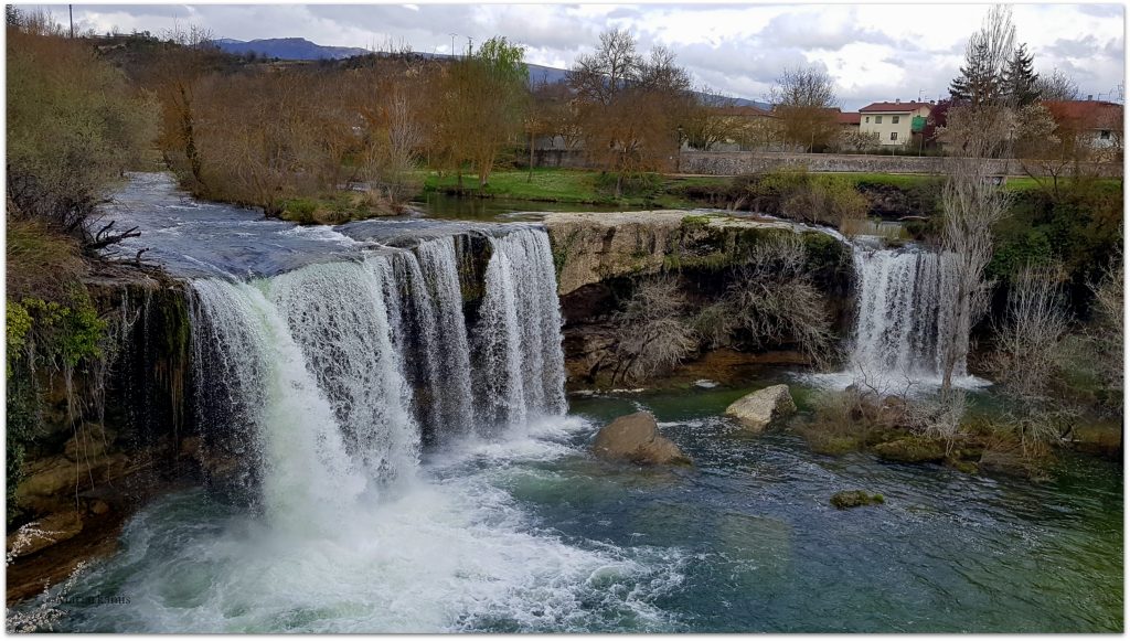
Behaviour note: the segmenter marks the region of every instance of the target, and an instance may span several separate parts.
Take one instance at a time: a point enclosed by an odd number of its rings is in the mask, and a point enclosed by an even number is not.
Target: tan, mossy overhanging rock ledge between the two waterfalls
[[[727,295],[754,248],[781,235],[796,235],[803,244],[803,269],[823,292],[835,331],[845,335],[851,322],[851,251],[811,227],[758,216],[671,210],[550,214],[545,225],[558,274],[572,389],[614,382],[623,360],[617,353],[623,332],[616,314],[641,284],[673,278],[688,307],[705,309]],[[731,361],[808,363],[786,339],[757,348],[707,346],[680,366],[710,361],[719,348]],[[707,378],[712,378],[709,372]]]

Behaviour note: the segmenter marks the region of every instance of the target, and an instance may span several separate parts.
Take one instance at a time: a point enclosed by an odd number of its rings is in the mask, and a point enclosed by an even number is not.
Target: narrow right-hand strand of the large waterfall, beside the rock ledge
[[[521,229],[490,239],[479,312],[481,413],[493,423],[563,414],[560,307],[548,235]]]

